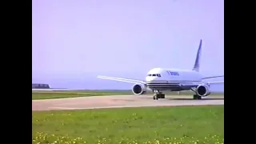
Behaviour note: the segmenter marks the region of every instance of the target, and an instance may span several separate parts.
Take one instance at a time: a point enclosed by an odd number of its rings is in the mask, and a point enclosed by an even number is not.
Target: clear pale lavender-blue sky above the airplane
[[[33,82],[101,89],[98,74],[143,79],[154,67],[192,69],[201,38],[202,73],[224,74],[223,0],[32,2]]]

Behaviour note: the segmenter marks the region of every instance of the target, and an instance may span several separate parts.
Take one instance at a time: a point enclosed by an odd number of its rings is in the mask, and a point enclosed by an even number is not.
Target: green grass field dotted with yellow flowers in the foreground
[[[32,112],[32,143],[223,143],[224,106]]]

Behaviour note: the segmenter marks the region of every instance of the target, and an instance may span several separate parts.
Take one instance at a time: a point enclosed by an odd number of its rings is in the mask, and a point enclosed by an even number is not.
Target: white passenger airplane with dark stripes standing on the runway
[[[130,78],[108,77],[102,75],[99,75],[98,78],[134,83],[134,86],[132,86],[131,90],[135,95],[146,94],[147,90],[152,90],[154,92],[154,100],[158,100],[158,98],[165,98],[163,91],[167,90],[192,90],[194,91],[193,99],[202,99],[202,97],[210,95],[210,84],[222,82],[224,83],[224,81],[202,82],[202,80],[208,78],[224,77],[224,75],[203,77],[203,75],[199,72],[201,51],[202,39],[200,40],[198,46],[198,53],[192,70],[154,68],[147,73],[145,81]]]

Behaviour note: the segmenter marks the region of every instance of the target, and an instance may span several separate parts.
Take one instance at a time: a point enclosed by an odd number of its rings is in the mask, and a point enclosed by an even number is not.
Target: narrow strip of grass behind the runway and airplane
[[[77,91],[32,91],[32,99],[50,99],[50,98],[74,98],[90,97],[102,95],[128,95],[132,94],[131,90],[77,90]],[[148,92],[147,94],[153,94]],[[165,94],[177,95],[177,92],[165,92]],[[181,95],[193,95],[192,92],[180,92]],[[211,94],[223,95],[223,94]]]

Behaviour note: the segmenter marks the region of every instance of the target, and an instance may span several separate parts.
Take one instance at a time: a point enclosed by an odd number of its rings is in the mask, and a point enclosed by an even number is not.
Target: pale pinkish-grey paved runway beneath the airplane
[[[113,95],[80,98],[57,98],[32,100],[34,110],[82,110],[141,106],[196,106],[224,105],[224,96],[210,96],[202,100],[193,100],[192,96],[166,96],[165,99],[153,100],[152,96]]]

